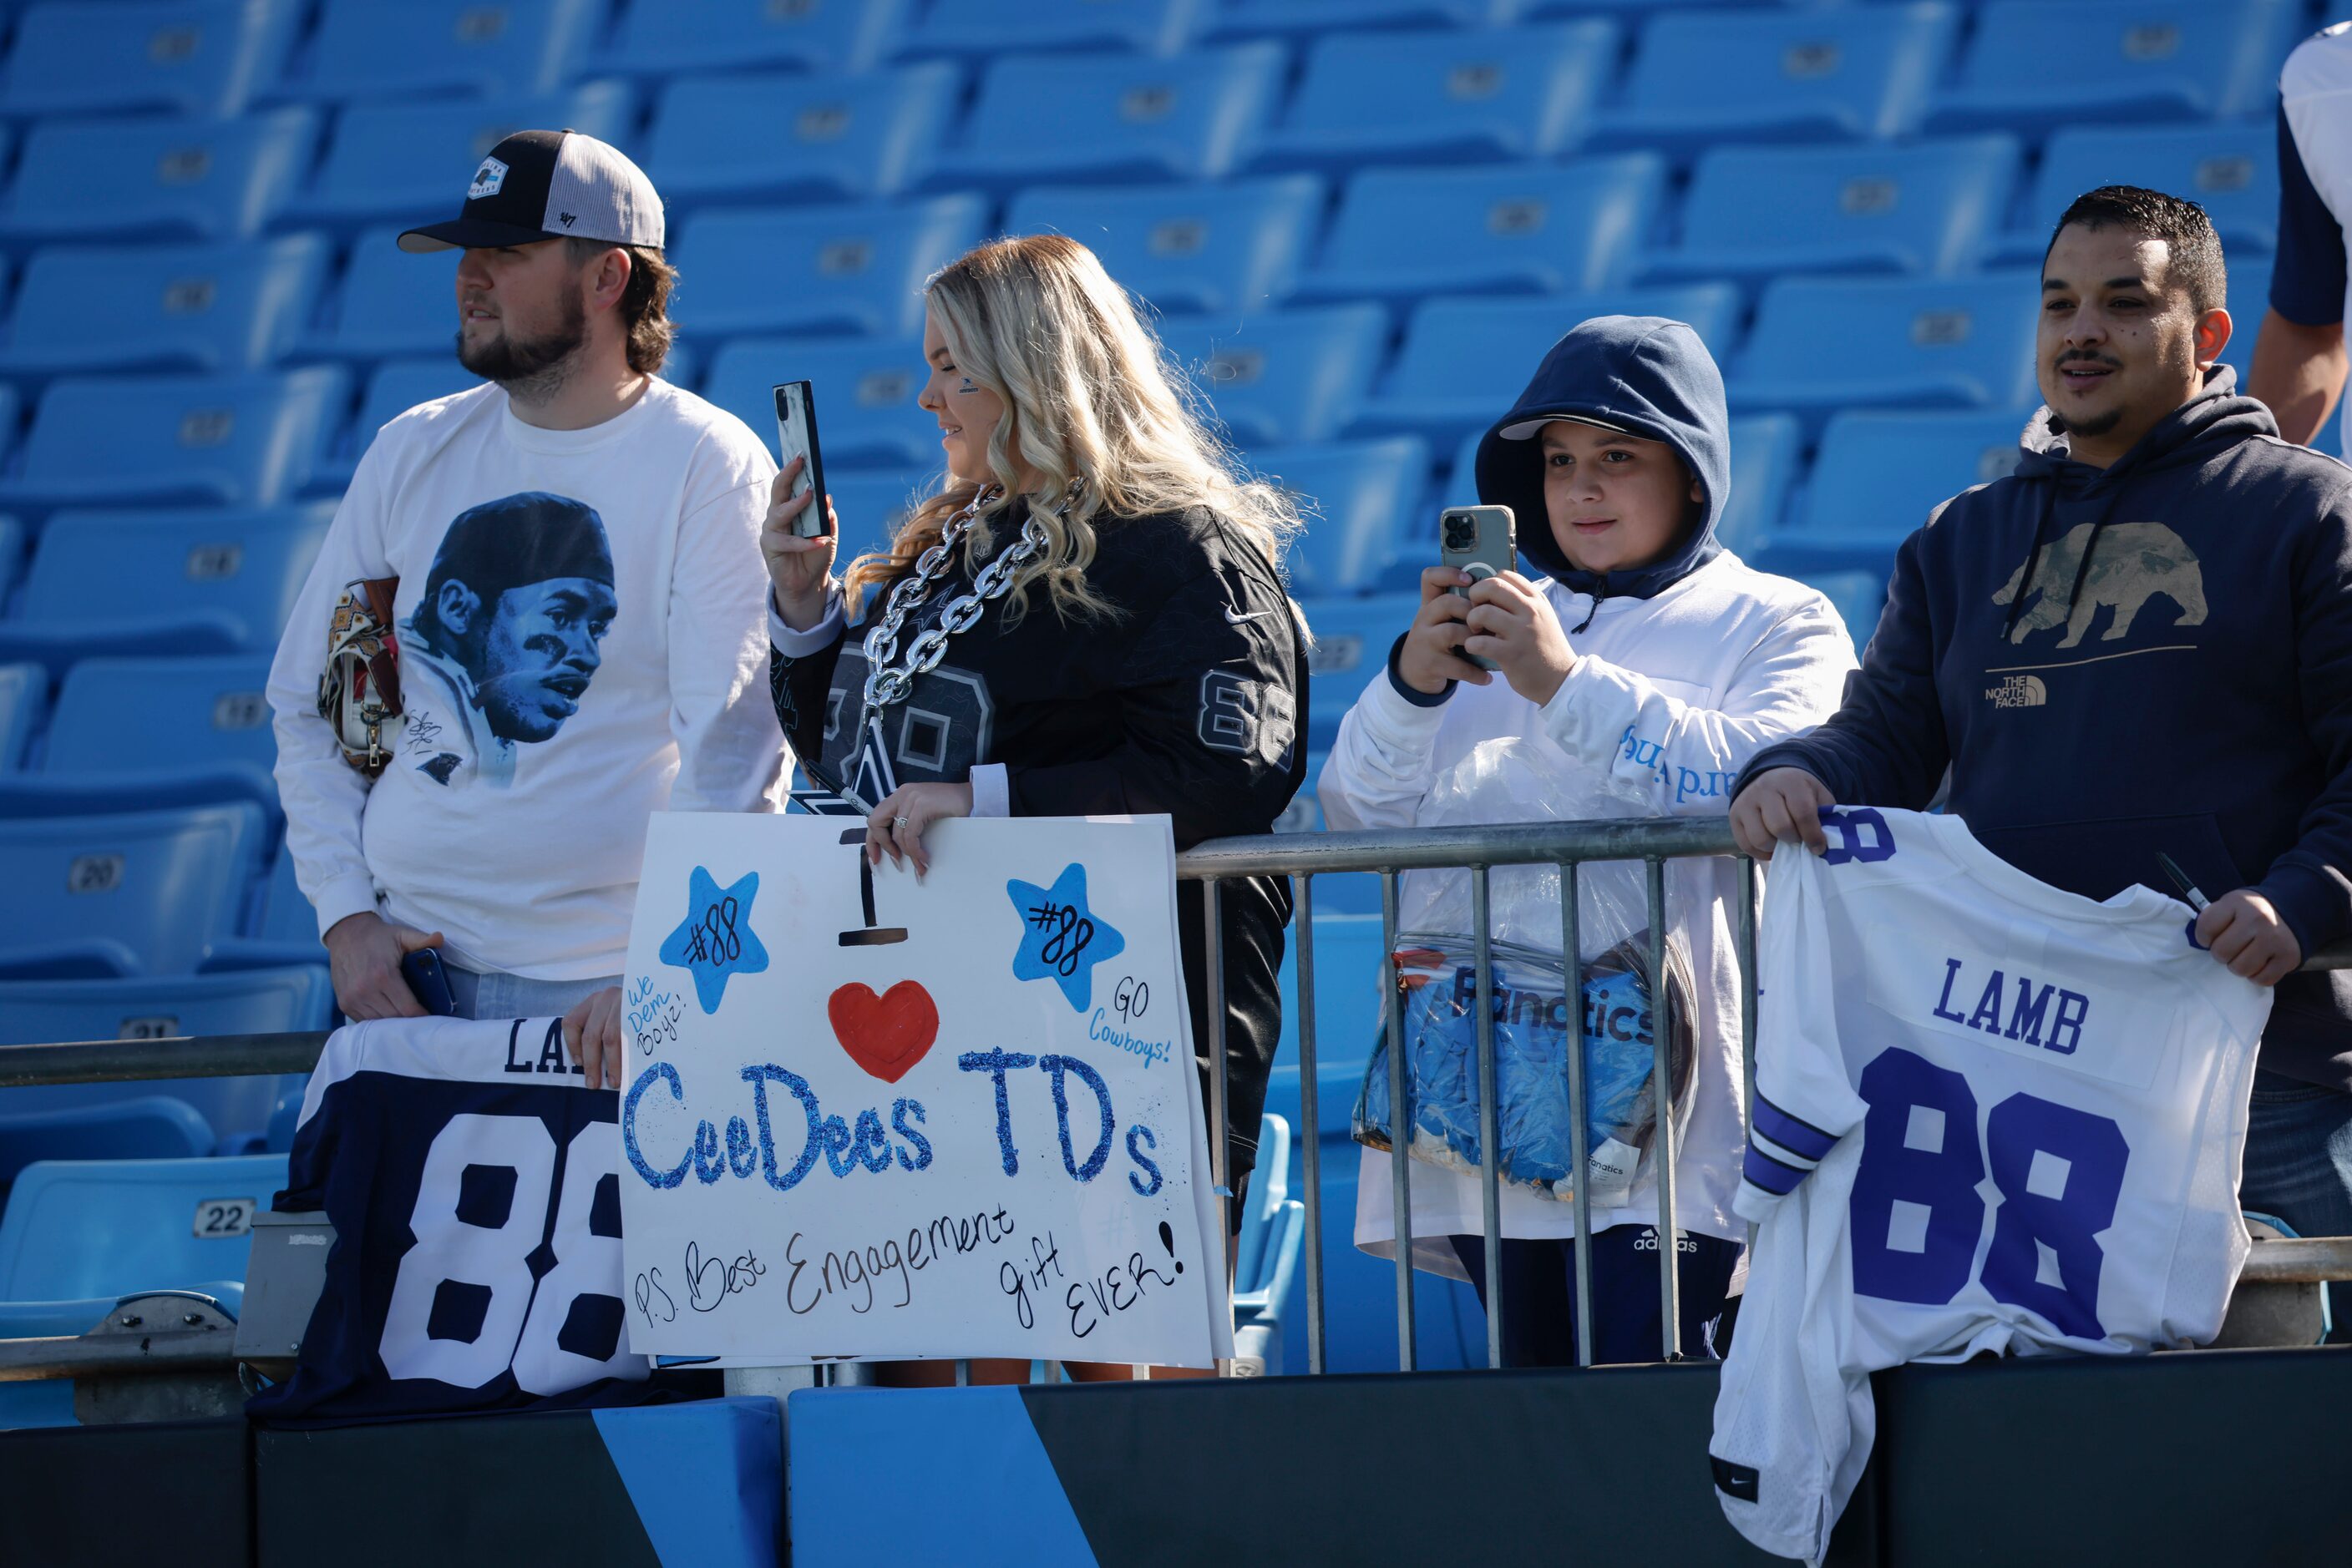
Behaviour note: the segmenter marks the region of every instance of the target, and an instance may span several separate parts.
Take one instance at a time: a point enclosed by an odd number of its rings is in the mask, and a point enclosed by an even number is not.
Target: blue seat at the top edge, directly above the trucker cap
[[[303,99],[555,92],[604,19],[597,0],[327,0],[285,78]]]

